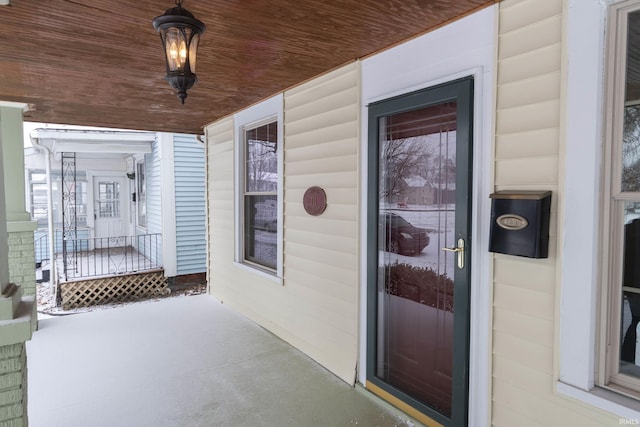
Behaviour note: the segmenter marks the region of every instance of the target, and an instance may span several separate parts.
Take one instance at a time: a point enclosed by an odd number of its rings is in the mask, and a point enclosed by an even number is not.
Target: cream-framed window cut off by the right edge
[[[598,382],[640,398],[640,1],[613,9]]]

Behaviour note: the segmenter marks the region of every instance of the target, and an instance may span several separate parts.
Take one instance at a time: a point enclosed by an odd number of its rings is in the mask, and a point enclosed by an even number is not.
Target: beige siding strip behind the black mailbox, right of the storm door
[[[492,424],[603,426],[618,418],[554,392],[563,0],[499,5],[494,185],[552,190],[549,258],[494,255]]]

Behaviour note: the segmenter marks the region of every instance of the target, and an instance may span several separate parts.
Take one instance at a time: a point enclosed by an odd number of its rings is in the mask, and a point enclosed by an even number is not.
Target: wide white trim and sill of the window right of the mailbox
[[[606,250],[600,247],[604,114],[612,108],[605,92],[605,35],[610,6],[627,2],[568,2],[566,143],[561,159],[564,190],[558,206],[563,231],[558,258],[561,289],[556,391],[622,418],[640,419],[637,401],[595,386],[598,346],[603,345],[598,335],[598,299],[600,254]],[[580,215],[570,214],[569,206]]]

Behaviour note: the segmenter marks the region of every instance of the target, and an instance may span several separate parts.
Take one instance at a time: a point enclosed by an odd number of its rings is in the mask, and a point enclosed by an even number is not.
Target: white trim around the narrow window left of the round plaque
[[[242,215],[244,204],[243,176],[244,173],[244,130],[253,125],[263,123],[265,120],[272,118],[278,123],[278,240],[277,240],[277,261],[275,278],[282,278],[283,272],[283,211],[284,211],[284,124],[283,124],[283,103],[282,94],[273,96],[265,101],[260,102],[252,107],[247,108],[233,116],[234,129],[234,234],[235,234],[235,251],[234,262],[246,268],[248,271],[256,272],[262,276],[273,278],[274,275],[266,270],[260,269],[258,266],[248,264],[244,261],[243,247],[243,229],[244,218]],[[281,280],[277,282],[282,283]]]

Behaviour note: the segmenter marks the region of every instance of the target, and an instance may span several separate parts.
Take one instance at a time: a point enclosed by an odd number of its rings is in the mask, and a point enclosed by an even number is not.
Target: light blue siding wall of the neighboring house
[[[206,270],[204,145],[174,135],[177,274]]]

